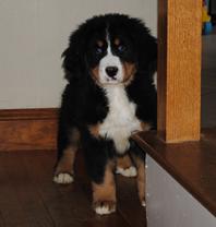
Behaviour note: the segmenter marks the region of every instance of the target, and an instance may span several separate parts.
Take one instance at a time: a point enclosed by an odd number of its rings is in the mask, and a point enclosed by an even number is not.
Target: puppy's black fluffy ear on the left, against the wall
[[[80,32],[75,31],[70,37],[69,47],[62,53],[64,77],[69,82],[81,79],[85,71],[84,44],[82,39]]]

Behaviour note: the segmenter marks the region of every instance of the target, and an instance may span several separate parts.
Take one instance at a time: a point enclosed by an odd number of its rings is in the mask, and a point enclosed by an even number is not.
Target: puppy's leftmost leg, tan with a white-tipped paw
[[[73,166],[79,148],[80,133],[76,129],[71,130],[70,140],[64,134],[59,134],[58,140],[58,160],[55,169],[53,181],[56,183],[73,182]]]

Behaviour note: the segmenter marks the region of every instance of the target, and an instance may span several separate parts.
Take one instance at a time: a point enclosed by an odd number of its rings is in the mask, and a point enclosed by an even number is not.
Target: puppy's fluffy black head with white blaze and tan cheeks
[[[137,19],[107,14],[82,24],[63,57],[69,81],[87,75],[100,86],[127,85],[156,59],[156,41]]]

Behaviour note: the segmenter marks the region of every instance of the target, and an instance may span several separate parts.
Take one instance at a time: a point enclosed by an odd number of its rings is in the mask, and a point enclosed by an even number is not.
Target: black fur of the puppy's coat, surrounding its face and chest
[[[125,37],[132,44],[122,59],[134,62],[136,73],[125,91],[137,106],[136,117],[151,122],[153,128],[156,127],[156,91],[153,85],[157,58],[156,39],[140,20],[127,15],[107,14],[86,21],[72,33],[69,47],[62,53],[68,85],[62,95],[59,117],[58,159],[71,143],[71,130],[79,129],[87,171],[97,183],[103,181],[107,162],[117,156],[111,140],[96,139],[87,129],[89,124],[103,122],[109,111],[104,89],[89,74],[89,69],[98,63],[97,57],[92,56],[91,41],[105,36],[106,29],[110,35]],[[135,145],[131,143],[131,146],[134,148]],[[137,147],[135,151],[137,155]]]

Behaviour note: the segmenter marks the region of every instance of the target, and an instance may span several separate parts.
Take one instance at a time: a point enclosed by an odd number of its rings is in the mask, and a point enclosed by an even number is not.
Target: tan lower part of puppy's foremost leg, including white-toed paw
[[[105,169],[103,183],[93,182],[93,206],[96,213],[109,214],[116,211],[116,183],[113,177],[113,162]]]

